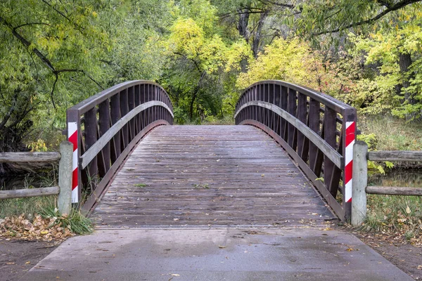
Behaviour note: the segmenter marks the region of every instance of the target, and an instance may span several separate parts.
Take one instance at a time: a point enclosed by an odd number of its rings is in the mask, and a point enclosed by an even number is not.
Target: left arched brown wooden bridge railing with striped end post
[[[152,81],[128,81],[68,109],[68,138],[74,145],[72,202],[89,195],[91,211],[120,164],[143,136],[173,124],[173,107]]]

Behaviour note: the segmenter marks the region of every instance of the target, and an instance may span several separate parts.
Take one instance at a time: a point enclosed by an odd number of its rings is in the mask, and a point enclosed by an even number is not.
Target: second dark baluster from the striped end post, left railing
[[[110,102],[108,99],[104,100],[99,105],[100,115],[100,138],[101,136],[110,129]],[[98,172],[100,177],[106,175],[108,169],[110,169],[110,142],[108,142],[99,155],[101,159],[98,159]]]

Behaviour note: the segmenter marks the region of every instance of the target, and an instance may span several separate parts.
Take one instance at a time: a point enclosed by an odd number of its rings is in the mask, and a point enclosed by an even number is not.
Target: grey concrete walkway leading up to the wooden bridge
[[[317,228],[105,229],[22,280],[412,280],[353,235]]]

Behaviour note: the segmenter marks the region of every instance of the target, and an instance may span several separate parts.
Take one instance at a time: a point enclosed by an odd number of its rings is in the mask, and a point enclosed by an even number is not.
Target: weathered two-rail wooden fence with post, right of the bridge
[[[422,188],[368,186],[367,161],[422,162],[422,151],[369,151],[364,141],[353,148],[352,225],[360,226],[366,219],[366,194],[422,196]]]

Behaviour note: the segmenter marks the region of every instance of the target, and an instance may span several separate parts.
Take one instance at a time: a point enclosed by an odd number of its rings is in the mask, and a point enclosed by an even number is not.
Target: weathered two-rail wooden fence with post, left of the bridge
[[[57,162],[58,186],[18,190],[0,190],[1,199],[58,195],[58,210],[70,214],[72,208],[72,155],[73,145],[68,141],[60,143],[60,152],[2,152],[0,163]]]

